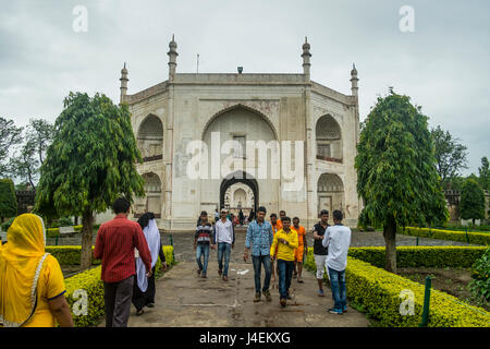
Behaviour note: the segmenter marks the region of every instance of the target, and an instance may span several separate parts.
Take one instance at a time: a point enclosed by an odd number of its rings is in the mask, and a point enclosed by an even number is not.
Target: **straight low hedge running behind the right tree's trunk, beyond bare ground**
[[[396,266],[407,267],[471,267],[487,248],[479,246],[397,246]],[[384,267],[384,248],[351,248],[348,255]]]

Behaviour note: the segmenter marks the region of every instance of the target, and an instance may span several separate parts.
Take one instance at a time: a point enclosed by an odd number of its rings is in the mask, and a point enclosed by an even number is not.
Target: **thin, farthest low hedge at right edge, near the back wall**
[[[429,229],[417,227],[405,227],[405,230],[403,230],[403,228],[400,228],[397,232],[413,237],[461,241],[461,242],[469,241],[469,243],[474,244],[490,245],[490,233],[487,232],[468,231],[467,233],[468,236],[466,237],[465,231],[441,230],[441,229]]]

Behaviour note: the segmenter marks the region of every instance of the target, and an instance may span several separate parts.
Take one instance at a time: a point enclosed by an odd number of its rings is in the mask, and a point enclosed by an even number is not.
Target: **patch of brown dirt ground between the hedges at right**
[[[469,291],[468,284],[471,279],[470,268],[399,268],[397,274],[406,277],[411,280],[425,285],[426,277],[430,276],[432,279],[432,288],[439,291],[443,291],[457,299],[476,306],[482,306],[477,304],[473,299]],[[490,306],[483,305],[486,310],[490,311]]]

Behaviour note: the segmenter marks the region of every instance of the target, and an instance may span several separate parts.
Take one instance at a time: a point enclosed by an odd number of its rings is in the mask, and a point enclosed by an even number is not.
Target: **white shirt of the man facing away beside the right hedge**
[[[345,270],[348,246],[351,245],[351,228],[342,225],[328,227],[322,244],[324,248],[329,248],[327,266],[336,272]]]

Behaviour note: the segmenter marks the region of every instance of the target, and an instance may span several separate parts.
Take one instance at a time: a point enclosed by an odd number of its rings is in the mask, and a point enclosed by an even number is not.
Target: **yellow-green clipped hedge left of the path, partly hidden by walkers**
[[[47,246],[46,252],[49,252],[57,257],[61,265],[79,264],[81,246]],[[163,246],[163,253],[166,255],[167,265],[173,265],[173,246]],[[93,264],[100,264],[100,261],[94,260]],[[160,258],[156,266],[156,275],[158,277],[161,275]],[[97,326],[105,314],[103,282],[100,279],[100,273],[101,266],[97,266],[65,279],[65,296],[70,309],[72,310],[73,322],[76,327]],[[87,291],[88,315],[75,315],[73,313],[74,305],[78,301],[78,299],[73,297],[77,289]]]

